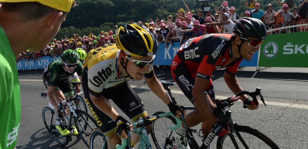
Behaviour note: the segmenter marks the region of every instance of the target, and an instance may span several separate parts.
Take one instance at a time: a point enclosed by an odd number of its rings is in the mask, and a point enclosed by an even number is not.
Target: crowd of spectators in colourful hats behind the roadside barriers
[[[289,3],[288,3],[289,2]],[[260,19],[269,29],[281,28],[289,25],[307,24],[307,11],[308,0],[300,0],[297,7],[293,7],[293,0],[278,1],[282,7],[279,10],[274,9],[271,4],[267,5],[267,11],[260,9],[260,4],[257,0],[246,0],[245,5],[248,6],[242,17],[252,17]],[[146,28],[153,34],[153,36],[159,42],[165,43],[165,47],[173,42],[180,42],[180,45],[189,38],[202,36],[210,33],[224,33],[232,32],[232,28],[237,19],[241,18],[236,14],[234,6],[229,7],[227,1],[223,1],[219,9],[214,7],[212,10],[190,10],[188,5],[184,5],[186,10],[180,8],[177,11],[175,20],[172,19],[172,15],[167,16],[167,20],[156,18],[149,19],[148,23],[142,23],[138,21],[138,24]],[[292,8],[293,7],[293,8]],[[276,8],[277,9],[277,8]],[[289,11],[291,10],[292,13]],[[195,14],[197,12],[197,14]],[[214,13],[214,14],[213,14]],[[212,15],[213,14],[213,15]],[[135,23],[131,20],[132,23]],[[307,31],[307,26],[290,28],[289,32],[303,32]],[[67,49],[82,48],[86,52],[91,49],[98,48],[104,44],[115,43],[115,36],[118,32],[118,26],[115,25],[115,34],[113,31],[100,32],[98,36],[89,32],[88,36],[79,36],[79,34],[73,34],[71,38],[64,36],[61,40],[53,39],[38,53],[33,53],[26,50],[19,54],[18,60],[27,59],[40,60],[43,56],[58,57],[62,52]],[[286,33],[287,30],[280,29],[272,32]]]

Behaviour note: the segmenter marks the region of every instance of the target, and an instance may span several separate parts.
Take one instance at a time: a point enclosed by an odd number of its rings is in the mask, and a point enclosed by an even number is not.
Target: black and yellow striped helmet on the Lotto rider
[[[152,33],[135,23],[125,23],[124,27],[119,28],[116,45],[125,54],[137,57],[154,55],[158,48]]]

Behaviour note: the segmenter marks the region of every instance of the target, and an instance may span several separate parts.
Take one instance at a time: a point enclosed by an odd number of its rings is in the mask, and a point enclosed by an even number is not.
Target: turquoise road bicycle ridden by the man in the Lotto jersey
[[[168,116],[173,116],[171,112],[168,113],[161,113],[158,115],[153,115],[151,117],[142,117],[139,118],[136,122],[132,123],[132,132],[138,134],[140,136],[140,143],[139,146],[137,147],[138,149],[152,149],[151,143],[148,138],[148,130],[145,128],[149,124],[151,124],[153,121],[156,121],[159,118],[162,117],[168,117]],[[177,122],[178,125],[172,125],[169,127],[171,130],[176,130],[180,127],[180,119],[175,118],[175,121]],[[127,125],[127,130],[129,130],[129,124],[126,123]],[[127,139],[124,139],[122,141],[122,145],[116,145],[117,149],[124,149],[126,148],[127,144],[131,143],[131,132],[126,131],[126,134],[128,136]],[[128,145],[129,149],[132,149],[130,145]],[[135,147],[136,148],[136,147]],[[100,129],[94,129],[91,132],[90,136],[90,149],[107,149],[107,141],[106,138],[103,135],[103,132]]]

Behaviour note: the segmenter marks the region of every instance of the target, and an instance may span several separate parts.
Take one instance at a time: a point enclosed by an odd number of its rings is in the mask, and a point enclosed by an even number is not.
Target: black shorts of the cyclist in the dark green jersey
[[[48,84],[48,80],[49,80],[49,77],[43,77],[43,83],[47,89],[47,84]],[[66,80],[61,80],[61,81],[57,81],[57,86],[55,88],[55,91],[56,90],[61,90],[64,94],[65,97],[68,97],[68,96],[73,96],[74,95],[74,91],[73,91],[73,87],[71,85],[71,82],[70,80],[68,80],[68,78]]]

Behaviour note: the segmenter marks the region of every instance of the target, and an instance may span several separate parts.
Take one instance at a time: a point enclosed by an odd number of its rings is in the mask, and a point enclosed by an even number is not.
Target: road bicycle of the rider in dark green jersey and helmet
[[[54,115],[54,107],[50,103],[49,107],[44,107],[42,110],[43,121],[48,132],[59,144],[63,146],[66,146],[72,140],[71,135],[73,133],[73,125],[76,127],[79,136],[87,147],[89,147],[88,141],[91,131],[99,127],[93,117],[91,117],[87,112],[80,110],[79,103],[82,103],[84,105],[84,109],[87,109],[84,101],[78,98],[81,97],[79,96],[80,94],[81,93],[78,93],[74,96],[67,97],[66,100],[61,101],[58,105],[58,108],[62,113],[66,113],[66,105],[70,108],[70,114],[65,115],[62,118],[63,126],[71,132],[69,135],[61,135],[59,130],[55,127],[56,120]],[[47,93],[42,92],[40,93],[40,96],[45,98]]]

